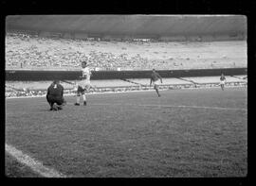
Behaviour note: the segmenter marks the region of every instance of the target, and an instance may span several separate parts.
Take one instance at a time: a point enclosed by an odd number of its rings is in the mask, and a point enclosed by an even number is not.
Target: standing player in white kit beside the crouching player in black
[[[75,106],[80,106],[80,96],[82,95],[83,105],[86,106],[85,91],[88,93],[91,88],[91,71],[85,61],[82,61],[82,81],[78,83],[77,102]]]

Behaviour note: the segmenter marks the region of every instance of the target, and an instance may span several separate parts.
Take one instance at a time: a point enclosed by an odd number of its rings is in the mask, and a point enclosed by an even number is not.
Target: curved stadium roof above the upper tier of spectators
[[[7,29],[103,35],[247,33],[243,15],[9,15]]]

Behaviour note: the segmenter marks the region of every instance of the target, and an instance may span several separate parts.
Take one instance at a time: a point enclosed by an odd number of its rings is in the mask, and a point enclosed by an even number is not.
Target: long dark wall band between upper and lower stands
[[[198,69],[198,70],[161,70],[162,77],[186,76],[226,76],[247,75],[247,68]],[[149,78],[152,71],[93,71],[91,79]],[[76,80],[80,71],[25,71],[6,70],[6,80],[9,81],[44,81],[53,79]]]

